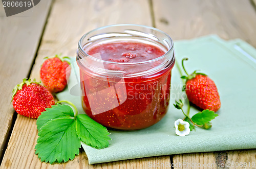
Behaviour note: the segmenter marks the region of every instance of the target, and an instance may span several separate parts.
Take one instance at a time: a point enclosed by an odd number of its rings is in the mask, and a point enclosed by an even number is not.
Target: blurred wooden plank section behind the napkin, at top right
[[[255,1],[255,0],[253,0]],[[250,0],[153,0],[155,24],[174,40],[218,34],[241,38],[256,47],[256,14]]]

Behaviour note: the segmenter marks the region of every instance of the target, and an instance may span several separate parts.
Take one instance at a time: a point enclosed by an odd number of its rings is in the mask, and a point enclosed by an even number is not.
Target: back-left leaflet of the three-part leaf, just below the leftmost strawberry
[[[46,108],[36,120],[37,130],[44,126],[47,122],[58,118],[71,118],[74,117],[72,108],[68,105],[53,105],[51,108]]]

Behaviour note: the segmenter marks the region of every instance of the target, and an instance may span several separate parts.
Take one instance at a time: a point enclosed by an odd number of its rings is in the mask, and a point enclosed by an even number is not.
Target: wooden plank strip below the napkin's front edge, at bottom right
[[[173,162],[174,168],[256,168],[256,150],[180,154]]]

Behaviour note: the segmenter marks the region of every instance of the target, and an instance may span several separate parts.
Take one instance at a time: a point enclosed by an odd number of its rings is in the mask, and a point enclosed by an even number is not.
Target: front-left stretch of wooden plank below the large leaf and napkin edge
[[[89,165],[86,153],[81,150],[73,161],[55,163],[53,165],[42,163],[34,155],[37,138],[35,120],[21,115],[19,115],[19,120],[20,123],[15,123],[15,128],[0,168],[143,168],[143,166],[148,166],[149,162],[152,164],[170,162],[169,156],[162,156]],[[27,129],[24,130],[26,127]]]

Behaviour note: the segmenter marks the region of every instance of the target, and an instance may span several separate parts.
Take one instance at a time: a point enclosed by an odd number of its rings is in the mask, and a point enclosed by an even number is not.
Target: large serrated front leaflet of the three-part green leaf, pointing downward
[[[49,121],[38,132],[35,154],[43,162],[73,160],[79,154],[80,140],[76,134],[76,120],[58,118]]]

